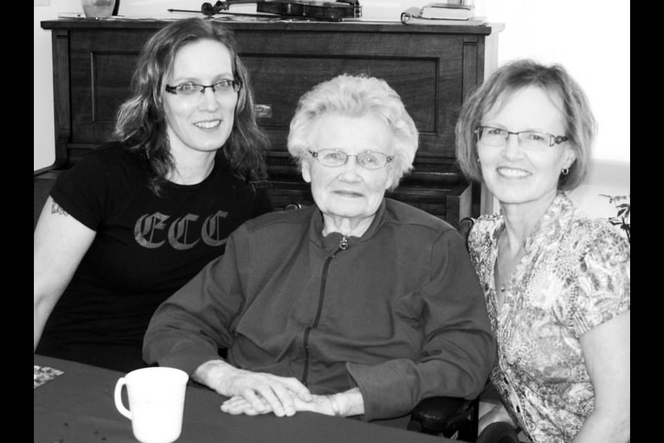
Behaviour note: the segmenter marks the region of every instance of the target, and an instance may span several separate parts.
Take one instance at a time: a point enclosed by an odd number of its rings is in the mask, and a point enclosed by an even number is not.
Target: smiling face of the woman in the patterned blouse
[[[562,100],[538,87],[526,87],[498,100],[484,114],[481,125],[510,132],[536,131],[565,135]],[[575,160],[569,142],[544,151],[529,150],[510,134],[503,146],[477,143],[483,181],[504,204],[542,201],[547,204],[557,192],[560,171]]]

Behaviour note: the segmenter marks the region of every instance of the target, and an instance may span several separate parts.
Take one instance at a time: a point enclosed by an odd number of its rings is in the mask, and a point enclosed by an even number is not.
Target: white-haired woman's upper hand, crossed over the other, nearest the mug
[[[274,412],[277,417],[291,416],[297,410],[295,401],[304,404],[313,400],[311,392],[295,378],[242,370],[223,360],[203,363],[192,378],[221,395],[247,402],[243,405],[236,401],[230,403],[232,407],[221,407],[223,412],[231,414]]]

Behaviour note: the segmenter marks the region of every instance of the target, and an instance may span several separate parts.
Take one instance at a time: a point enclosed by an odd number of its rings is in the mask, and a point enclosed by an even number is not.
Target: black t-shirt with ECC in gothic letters
[[[145,365],[142,340],[158,305],[222,255],[235,228],[272,209],[266,191],[234,177],[221,156],[201,183],[168,183],[156,197],[117,144],[84,156],[50,195],[97,235],[36,352],[124,372]]]

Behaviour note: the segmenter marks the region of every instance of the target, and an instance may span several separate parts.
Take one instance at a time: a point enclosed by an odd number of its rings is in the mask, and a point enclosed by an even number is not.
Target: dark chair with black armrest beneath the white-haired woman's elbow
[[[468,245],[468,235],[475,220],[465,217],[459,221],[459,233]],[[457,397],[429,397],[420,401],[410,415],[409,431],[441,435],[474,443],[519,443],[518,429],[509,423],[492,423],[478,435],[479,399],[490,392],[490,382],[476,399]]]

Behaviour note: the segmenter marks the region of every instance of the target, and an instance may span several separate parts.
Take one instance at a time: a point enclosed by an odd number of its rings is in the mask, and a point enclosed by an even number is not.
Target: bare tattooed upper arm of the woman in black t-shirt
[[[55,303],[95,238],[95,231],[48,197],[34,233],[35,347]],[[33,350],[33,351],[34,351]]]

